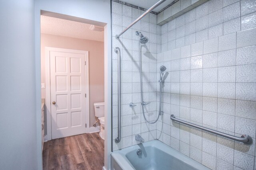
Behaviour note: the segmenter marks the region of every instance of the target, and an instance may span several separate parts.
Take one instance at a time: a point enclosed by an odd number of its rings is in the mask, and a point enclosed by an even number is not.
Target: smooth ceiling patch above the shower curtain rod
[[[122,0],[124,2],[127,2],[129,4],[132,5],[136,5],[145,9],[149,9],[150,7],[152,7],[154,4],[156,4],[159,0]],[[159,12],[160,10],[162,10],[164,7],[168,6],[169,4],[171,4],[174,0],[166,0],[164,1],[162,4],[160,4],[159,6],[157,6],[156,8],[154,8],[154,12]]]

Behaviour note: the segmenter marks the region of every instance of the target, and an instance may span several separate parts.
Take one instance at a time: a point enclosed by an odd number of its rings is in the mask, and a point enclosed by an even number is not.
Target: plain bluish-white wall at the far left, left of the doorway
[[[1,1],[0,16],[0,169],[35,170],[34,0]]]

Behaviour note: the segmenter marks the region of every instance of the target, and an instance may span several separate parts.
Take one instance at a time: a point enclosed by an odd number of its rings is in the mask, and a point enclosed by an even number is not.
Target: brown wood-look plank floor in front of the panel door
[[[99,133],[54,139],[44,143],[43,170],[102,170],[104,140]]]

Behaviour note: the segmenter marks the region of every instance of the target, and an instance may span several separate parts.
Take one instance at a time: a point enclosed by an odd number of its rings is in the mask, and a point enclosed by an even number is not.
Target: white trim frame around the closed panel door
[[[51,113],[51,85],[50,85],[50,51],[55,52],[64,52],[64,53],[77,53],[84,54],[85,56],[85,84],[86,84],[86,98],[85,98],[85,114],[86,114],[86,133],[89,133],[89,122],[90,122],[90,111],[89,111],[89,52],[82,50],[74,50],[74,49],[62,49],[55,47],[45,47],[45,55],[46,55],[46,74],[45,74],[45,90],[46,90],[46,127],[47,127],[47,135],[45,135],[44,141],[52,140],[52,113]]]

